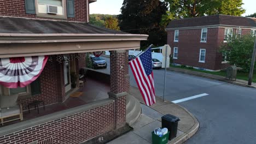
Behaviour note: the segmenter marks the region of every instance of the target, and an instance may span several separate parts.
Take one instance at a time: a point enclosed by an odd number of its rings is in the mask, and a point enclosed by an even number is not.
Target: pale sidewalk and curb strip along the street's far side
[[[215,75],[210,76],[212,74],[205,74],[205,73],[200,73],[200,72],[197,72],[198,74],[196,74],[196,73],[189,73],[188,71],[183,71],[182,69],[176,70],[176,69],[168,68],[167,70],[174,71],[174,72],[177,72],[177,73],[182,73],[182,74],[188,74],[188,75],[204,77],[204,78],[207,78],[207,79],[212,79],[212,80],[217,80],[217,81],[228,82],[228,83],[231,83],[231,84],[234,84],[234,85],[238,85],[238,86],[256,88],[255,86],[249,86],[249,85],[246,85],[246,84],[243,84],[243,83],[238,83],[238,82],[235,82],[235,81],[229,81],[229,80],[226,80],[225,78],[218,78],[217,76],[214,77]]]

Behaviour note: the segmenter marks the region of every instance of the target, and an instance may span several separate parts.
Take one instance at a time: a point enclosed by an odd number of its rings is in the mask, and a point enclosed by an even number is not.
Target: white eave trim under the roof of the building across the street
[[[243,29],[253,29],[256,27],[245,27],[245,26],[229,26],[229,25],[208,25],[208,26],[195,26],[195,27],[176,27],[176,28],[165,28],[168,30],[176,30],[176,29],[195,29],[195,28],[224,28],[224,27],[241,27]]]

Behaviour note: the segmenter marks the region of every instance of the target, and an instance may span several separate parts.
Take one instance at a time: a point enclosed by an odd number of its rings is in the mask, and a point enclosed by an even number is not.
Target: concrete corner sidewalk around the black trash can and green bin
[[[152,143],[151,132],[155,128],[161,127],[161,117],[169,113],[179,117],[181,121],[178,122],[177,136],[173,140],[168,141],[168,143],[183,143],[198,130],[199,122],[188,110],[184,109],[184,107],[173,104],[170,101],[164,102],[159,97],[156,97],[156,103],[153,106],[146,106],[137,87],[131,86],[130,94],[137,98],[141,103],[141,116],[139,116],[137,121],[131,125],[133,128],[132,131],[110,141],[108,144]]]

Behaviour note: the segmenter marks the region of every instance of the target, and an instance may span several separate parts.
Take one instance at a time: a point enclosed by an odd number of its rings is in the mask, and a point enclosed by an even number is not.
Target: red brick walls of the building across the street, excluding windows
[[[180,29],[179,41],[174,42],[174,30],[167,31],[167,44],[172,48],[178,47],[178,59],[173,59],[173,63],[189,65],[193,67],[219,70],[229,66],[222,64],[222,53],[219,53],[219,47],[224,41],[225,28],[208,28],[207,43],[200,43],[201,28]],[[234,34],[236,29],[234,29]],[[248,34],[251,29],[242,29],[242,35]],[[206,49],[205,63],[199,62],[200,49]]]

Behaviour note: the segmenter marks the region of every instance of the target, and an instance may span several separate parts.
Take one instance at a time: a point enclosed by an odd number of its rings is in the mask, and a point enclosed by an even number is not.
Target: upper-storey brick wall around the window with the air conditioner
[[[86,1],[76,0],[75,5],[75,17],[68,18],[68,21],[86,22]],[[47,17],[37,17],[33,14],[26,14],[25,0],[0,0],[0,16],[15,16],[15,17],[28,17],[28,18],[40,18],[51,19]],[[58,19],[64,20],[64,19]]]

